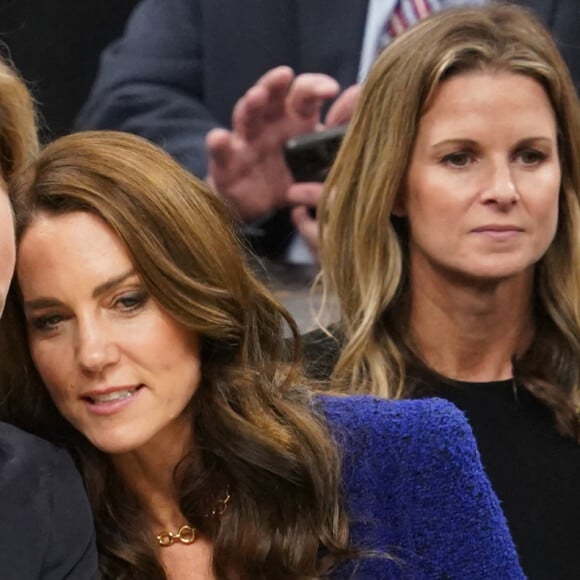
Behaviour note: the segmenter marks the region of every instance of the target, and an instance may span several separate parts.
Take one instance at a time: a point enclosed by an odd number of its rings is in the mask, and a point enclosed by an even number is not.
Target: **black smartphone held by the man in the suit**
[[[295,181],[323,182],[338,152],[346,125],[288,139],[284,156]]]

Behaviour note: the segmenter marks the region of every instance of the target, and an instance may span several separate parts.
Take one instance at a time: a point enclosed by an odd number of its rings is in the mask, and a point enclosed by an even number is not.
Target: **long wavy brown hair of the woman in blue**
[[[323,576],[348,552],[338,451],[296,386],[303,377],[284,339],[285,329],[297,338],[295,323],[250,271],[222,199],[161,149],[115,132],[58,139],[12,193],[18,239],[41,212],[97,215],[158,304],[200,337],[196,459],[185,457],[175,479],[183,515],[213,544],[216,576]],[[165,578],[136,499],[109,458],[58,414],[34,369],[16,282],[1,329],[4,413],[77,458],[103,577]],[[226,485],[232,500],[221,523],[199,517]]]

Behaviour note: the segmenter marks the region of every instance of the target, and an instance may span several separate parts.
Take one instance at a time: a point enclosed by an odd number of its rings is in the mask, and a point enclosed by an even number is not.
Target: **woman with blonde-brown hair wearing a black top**
[[[332,388],[466,413],[532,579],[578,577],[580,113],[522,8],[434,15],[363,88],[319,209]]]

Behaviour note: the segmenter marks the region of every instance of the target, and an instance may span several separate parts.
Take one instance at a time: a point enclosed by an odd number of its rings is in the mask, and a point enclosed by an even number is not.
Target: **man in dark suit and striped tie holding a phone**
[[[323,104],[364,79],[377,51],[405,27],[429,11],[484,2],[142,0],[104,51],[76,128],[157,143],[208,177],[260,254],[311,261],[293,232],[298,226],[310,242],[317,228],[303,207],[290,219],[290,206],[312,200],[300,190],[288,197],[285,141],[314,130]],[[553,19],[575,58],[580,27],[572,23],[580,20],[568,7],[575,0],[532,4]],[[284,106],[289,87],[297,90]]]

